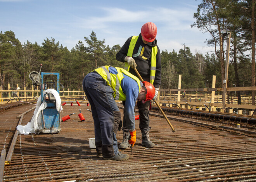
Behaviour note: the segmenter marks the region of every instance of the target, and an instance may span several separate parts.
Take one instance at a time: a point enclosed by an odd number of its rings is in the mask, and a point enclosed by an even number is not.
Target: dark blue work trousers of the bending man
[[[109,147],[112,145],[114,155],[118,154],[116,133],[121,121],[121,113],[112,96],[114,91],[96,72],[85,76],[83,89],[92,109],[95,142],[101,141],[102,145]],[[103,148],[102,155],[109,156],[109,154],[104,154]]]

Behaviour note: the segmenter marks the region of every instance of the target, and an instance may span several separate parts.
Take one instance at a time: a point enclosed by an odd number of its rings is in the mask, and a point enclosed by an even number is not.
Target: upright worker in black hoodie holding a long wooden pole
[[[157,27],[152,22],[145,23],[141,28],[138,36],[132,36],[127,39],[123,47],[116,54],[116,60],[125,63],[125,70],[137,76],[136,72],[131,68],[137,68],[138,73],[144,81],[150,82],[156,88],[156,94],[152,99],[154,102],[157,98],[159,87],[161,84],[161,57],[160,50],[156,40]],[[131,68],[130,68],[131,67]],[[147,148],[154,147],[154,143],[149,139],[149,106],[148,102],[138,102],[138,111],[140,115],[140,130],[142,132],[142,145]],[[126,103],[124,102],[126,109]],[[128,143],[129,132],[126,125],[128,116],[123,118],[123,141],[119,148],[125,149],[130,146]]]

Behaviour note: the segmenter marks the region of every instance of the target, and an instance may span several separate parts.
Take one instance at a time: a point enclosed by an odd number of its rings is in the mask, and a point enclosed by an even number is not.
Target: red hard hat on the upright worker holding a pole
[[[147,22],[141,27],[141,35],[147,42],[153,42],[156,38],[157,28],[152,22]]]

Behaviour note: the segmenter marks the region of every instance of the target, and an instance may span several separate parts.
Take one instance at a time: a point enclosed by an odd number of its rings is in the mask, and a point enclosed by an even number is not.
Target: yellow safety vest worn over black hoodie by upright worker
[[[135,44],[138,40],[139,36],[133,36],[131,38],[131,42],[129,45],[128,53],[127,56],[132,57],[133,49],[135,47]],[[157,47],[154,46],[152,47],[151,51],[151,67],[150,67],[150,83],[153,84],[155,80],[155,75],[156,75],[156,54],[157,54]],[[128,65],[127,62],[125,62],[125,70],[129,71],[130,70],[130,65]]]

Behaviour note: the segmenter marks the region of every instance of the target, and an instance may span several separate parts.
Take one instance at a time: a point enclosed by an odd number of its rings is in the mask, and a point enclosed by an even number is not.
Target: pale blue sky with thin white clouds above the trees
[[[0,0],[0,31],[13,31],[16,38],[40,46],[53,37],[69,50],[92,31],[110,47],[123,46],[138,35],[145,22],[157,26],[161,51],[179,51],[185,44],[193,54],[206,53],[207,33],[191,28],[200,0]]]

